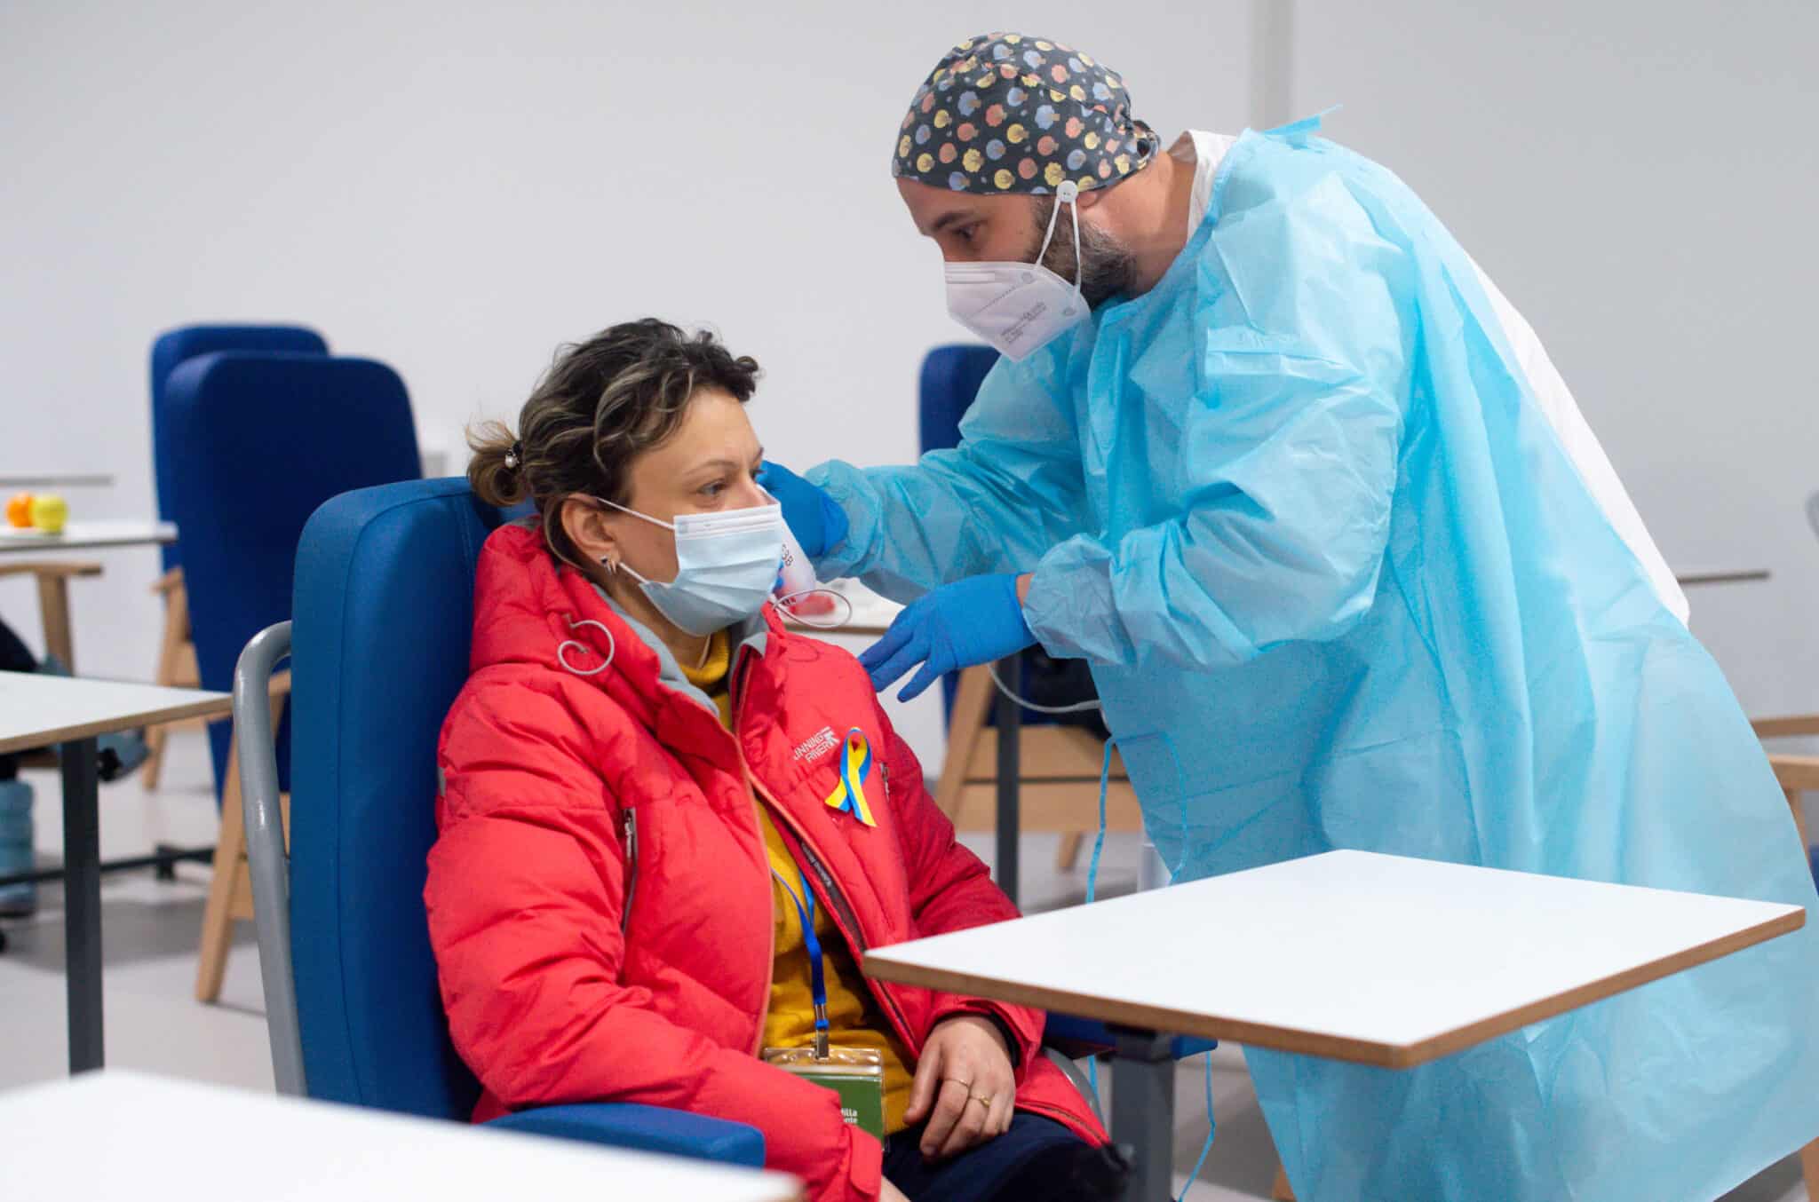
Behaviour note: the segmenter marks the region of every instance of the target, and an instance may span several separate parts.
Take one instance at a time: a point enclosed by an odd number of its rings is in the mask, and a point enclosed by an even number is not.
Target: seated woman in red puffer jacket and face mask
[[[1117,1197],[1122,1158],[1039,1051],[1040,1011],[859,973],[866,947],[1017,911],[859,662],[768,604],[757,375],[711,335],[615,326],[557,358],[517,436],[471,438],[475,493],[537,509],[480,553],[438,751],[426,900],[475,1118],[731,1118],[817,1202]],[[817,1037],[882,1064],[860,1087],[882,1140],[766,1057]]]

